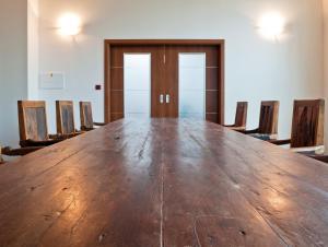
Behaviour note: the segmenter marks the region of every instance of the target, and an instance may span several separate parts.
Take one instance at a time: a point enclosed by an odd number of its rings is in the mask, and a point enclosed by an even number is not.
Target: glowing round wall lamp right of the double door
[[[283,34],[285,20],[280,13],[263,14],[259,21],[259,32],[265,38],[276,39]]]

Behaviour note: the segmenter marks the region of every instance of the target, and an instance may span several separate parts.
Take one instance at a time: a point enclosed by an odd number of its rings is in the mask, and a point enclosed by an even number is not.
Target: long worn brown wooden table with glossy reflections
[[[0,166],[0,246],[328,246],[328,166],[214,124],[117,121]]]

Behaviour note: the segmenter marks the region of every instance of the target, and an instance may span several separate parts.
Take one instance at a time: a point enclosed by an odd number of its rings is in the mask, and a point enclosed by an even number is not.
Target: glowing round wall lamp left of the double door
[[[73,13],[67,13],[58,20],[59,34],[74,36],[81,32],[81,19]]]

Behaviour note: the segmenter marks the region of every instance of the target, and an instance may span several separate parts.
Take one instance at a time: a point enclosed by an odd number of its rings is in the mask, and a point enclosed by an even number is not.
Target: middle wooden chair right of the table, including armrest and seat
[[[254,130],[238,131],[261,140],[274,140],[278,134],[278,101],[261,102],[259,127]]]

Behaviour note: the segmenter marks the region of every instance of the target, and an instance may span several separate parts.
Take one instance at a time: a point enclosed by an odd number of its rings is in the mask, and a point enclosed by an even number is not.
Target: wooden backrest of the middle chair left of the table
[[[56,101],[57,133],[70,134],[75,132],[74,106],[70,101]]]

